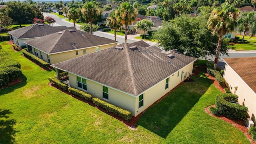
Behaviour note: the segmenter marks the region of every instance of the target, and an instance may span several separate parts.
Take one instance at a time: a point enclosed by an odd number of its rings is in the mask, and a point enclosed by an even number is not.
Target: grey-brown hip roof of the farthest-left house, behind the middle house
[[[32,24],[31,26],[25,26],[23,28],[18,28],[16,30],[9,31],[8,33],[17,39],[38,38],[38,37],[46,36],[48,34],[59,32],[65,29],[69,29],[69,28],[67,28],[66,26],[65,27],[62,26],[62,28],[60,27],[55,28],[53,26],[49,26],[48,24],[37,23],[37,24]]]

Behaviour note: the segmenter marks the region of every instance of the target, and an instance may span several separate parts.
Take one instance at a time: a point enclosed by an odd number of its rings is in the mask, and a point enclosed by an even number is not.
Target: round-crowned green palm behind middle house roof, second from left
[[[86,2],[81,10],[85,20],[88,20],[91,25],[91,34],[92,34],[92,22],[98,19],[100,10],[98,8],[97,2]]]

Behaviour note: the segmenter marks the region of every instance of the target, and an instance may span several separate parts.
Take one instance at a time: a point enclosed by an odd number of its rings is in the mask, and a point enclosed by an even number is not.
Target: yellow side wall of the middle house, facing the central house
[[[110,48],[115,45],[116,44],[108,44],[105,46],[95,46],[92,48],[84,48],[84,49],[86,49],[86,54],[90,54],[92,52],[96,52],[96,47],[100,47],[100,50],[104,50],[106,48]],[[62,53],[58,53],[58,54],[50,54],[51,64],[56,64],[59,62],[63,62],[65,60],[70,60],[72,58],[76,58],[78,56],[83,56],[83,55],[85,55],[84,51],[83,51],[84,49],[78,50],[78,55],[76,55],[76,50],[69,51],[69,52],[62,52]]]

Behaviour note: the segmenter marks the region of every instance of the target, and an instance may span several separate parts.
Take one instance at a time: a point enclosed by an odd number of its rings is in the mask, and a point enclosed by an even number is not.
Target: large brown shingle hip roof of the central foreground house
[[[132,50],[133,44],[118,46],[123,49],[111,47],[52,66],[137,96],[196,60],[176,53],[171,59],[140,46]]]

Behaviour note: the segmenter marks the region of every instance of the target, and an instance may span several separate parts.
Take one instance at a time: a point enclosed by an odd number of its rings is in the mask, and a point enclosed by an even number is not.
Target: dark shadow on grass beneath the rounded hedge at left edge
[[[27,84],[27,78],[24,74],[21,74],[21,78],[22,78],[22,82],[0,89],[0,95],[9,94],[10,92],[13,92],[17,88],[21,88],[25,86]]]

